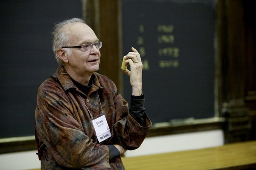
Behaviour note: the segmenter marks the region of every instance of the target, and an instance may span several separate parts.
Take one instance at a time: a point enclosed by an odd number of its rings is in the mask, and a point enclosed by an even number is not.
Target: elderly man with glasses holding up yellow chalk
[[[42,170],[123,170],[120,155],[145,139],[151,121],[144,108],[142,62],[135,48],[130,108],[99,69],[102,42],[84,20],[64,20],[53,31],[59,67],[38,89],[35,138]]]

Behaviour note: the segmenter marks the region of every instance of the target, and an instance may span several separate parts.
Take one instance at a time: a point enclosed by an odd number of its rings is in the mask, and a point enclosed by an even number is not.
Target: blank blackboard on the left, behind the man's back
[[[81,0],[0,1],[0,138],[34,135],[38,87],[58,66],[52,28],[73,17]]]

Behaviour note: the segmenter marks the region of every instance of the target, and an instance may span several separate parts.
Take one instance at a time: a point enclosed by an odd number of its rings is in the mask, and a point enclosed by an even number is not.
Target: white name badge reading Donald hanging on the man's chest
[[[108,122],[106,120],[105,115],[102,115],[97,119],[94,119],[92,122],[99,142],[102,142],[111,137],[111,132],[108,127]]]

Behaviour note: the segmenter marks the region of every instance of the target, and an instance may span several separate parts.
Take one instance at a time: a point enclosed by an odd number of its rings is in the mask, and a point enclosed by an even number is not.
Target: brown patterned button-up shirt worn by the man
[[[102,74],[93,73],[92,77],[87,95],[73,84],[63,67],[39,87],[35,135],[41,170],[123,170],[120,157],[109,161],[106,145],[119,144],[134,150],[145,139],[151,127],[146,113],[140,125],[117,93],[116,85]],[[93,117],[102,115],[103,110],[111,138],[97,141],[87,108]]]

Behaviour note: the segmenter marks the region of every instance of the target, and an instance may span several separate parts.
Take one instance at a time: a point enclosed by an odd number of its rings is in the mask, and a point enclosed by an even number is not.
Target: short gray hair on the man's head
[[[64,20],[60,23],[57,23],[55,25],[55,27],[53,28],[52,51],[55,55],[55,59],[57,60],[58,64],[61,66],[63,65],[63,62],[56,54],[56,51],[59,48],[62,48],[63,46],[68,45],[70,37],[67,35],[67,32],[62,28],[63,28],[63,26],[65,26],[69,23],[85,23],[85,21],[81,18],[72,18],[72,19]],[[67,52],[68,55],[71,55],[71,50],[69,48],[65,48],[64,50]]]

